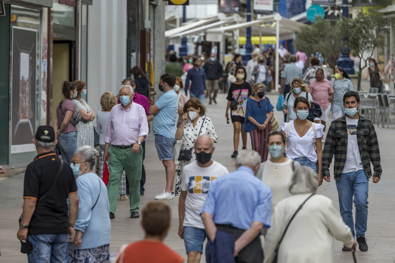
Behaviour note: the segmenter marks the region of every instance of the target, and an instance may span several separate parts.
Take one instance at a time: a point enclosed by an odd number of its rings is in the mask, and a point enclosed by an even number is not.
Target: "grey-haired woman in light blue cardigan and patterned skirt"
[[[79,199],[74,243],[69,243],[70,263],[109,262],[110,206],[105,184],[92,172],[96,154],[85,145],[75,151],[70,164],[77,177]]]

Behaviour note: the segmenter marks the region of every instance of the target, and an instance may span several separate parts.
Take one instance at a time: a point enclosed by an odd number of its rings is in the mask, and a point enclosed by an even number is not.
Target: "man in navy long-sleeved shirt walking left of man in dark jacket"
[[[191,87],[189,95],[191,98],[198,98],[199,101],[204,105],[204,99],[207,97],[206,88],[206,73],[204,69],[200,68],[201,59],[194,57],[192,60],[194,67],[188,70],[185,80],[185,95],[188,96],[189,81],[191,81]]]

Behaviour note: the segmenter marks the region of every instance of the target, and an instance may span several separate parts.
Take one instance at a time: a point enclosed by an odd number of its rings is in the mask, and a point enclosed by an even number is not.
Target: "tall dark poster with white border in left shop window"
[[[37,30],[12,27],[11,153],[35,151]]]

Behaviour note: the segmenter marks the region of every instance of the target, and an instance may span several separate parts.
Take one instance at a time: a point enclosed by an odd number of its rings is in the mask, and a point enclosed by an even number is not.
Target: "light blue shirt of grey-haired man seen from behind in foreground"
[[[255,177],[251,168],[240,166],[211,183],[200,214],[203,212],[213,215],[215,224],[246,230],[256,221],[270,228],[271,190]]]

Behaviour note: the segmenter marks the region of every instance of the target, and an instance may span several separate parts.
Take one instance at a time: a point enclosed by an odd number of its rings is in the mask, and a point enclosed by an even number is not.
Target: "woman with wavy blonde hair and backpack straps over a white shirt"
[[[286,122],[296,119],[296,113],[293,111],[293,103],[297,97],[305,97],[309,102],[313,102],[313,97],[308,93],[308,88],[301,78],[294,78],[291,82],[291,90],[285,95],[284,109],[282,112],[287,114]],[[308,105],[310,108],[310,103]]]

